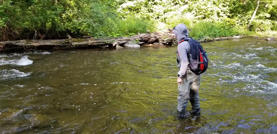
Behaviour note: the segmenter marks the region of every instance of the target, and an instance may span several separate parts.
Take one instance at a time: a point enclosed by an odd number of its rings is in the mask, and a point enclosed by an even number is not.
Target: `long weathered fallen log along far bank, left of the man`
[[[162,42],[164,41],[163,36],[167,33],[171,33],[171,29],[165,30],[166,32],[157,33],[143,33],[130,37],[116,37],[116,38],[71,38],[64,40],[16,40],[16,41],[2,41],[0,42],[0,52],[10,51],[12,49],[19,49],[22,46],[25,48],[78,48],[78,47],[100,47],[109,46],[115,47],[116,45],[123,46],[128,41],[139,41],[140,44]],[[24,47],[23,47],[24,48]],[[25,50],[24,48],[24,50]]]

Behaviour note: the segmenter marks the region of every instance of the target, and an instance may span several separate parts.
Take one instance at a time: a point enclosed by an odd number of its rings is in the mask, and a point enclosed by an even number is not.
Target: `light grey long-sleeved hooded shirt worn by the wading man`
[[[173,32],[178,40],[178,43],[183,39],[190,39],[188,36],[187,26],[185,24],[178,24]],[[189,64],[187,56],[190,52],[190,48],[191,47],[188,41],[181,42],[177,48],[179,52],[179,56],[177,56],[177,61],[179,61],[179,63],[177,63],[177,66],[180,67],[178,74],[182,77],[185,76],[187,72],[187,65]]]

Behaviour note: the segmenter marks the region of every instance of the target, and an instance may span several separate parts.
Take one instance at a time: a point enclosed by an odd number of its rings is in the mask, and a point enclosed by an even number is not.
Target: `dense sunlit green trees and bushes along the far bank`
[[[277,0],[0,0],[1,40],[131,36],[184,23],[190,36],[277,31]],[[143,20],[144,22],[136,19]]]

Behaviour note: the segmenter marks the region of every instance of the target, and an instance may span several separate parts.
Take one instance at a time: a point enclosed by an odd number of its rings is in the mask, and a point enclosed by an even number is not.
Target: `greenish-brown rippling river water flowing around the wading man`
[[[201,115],[178,118],[176,46],[0,55],[0,133],[277,133],[277,43],[202,43]]]

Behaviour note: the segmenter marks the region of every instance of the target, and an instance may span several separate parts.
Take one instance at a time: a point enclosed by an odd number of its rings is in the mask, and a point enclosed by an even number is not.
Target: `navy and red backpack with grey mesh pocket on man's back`
[[[201,44],[190,37],[190,39],[184,39],[179,42],[179,44],[183,41],[188,41],[190,44],[190,53],[188,61],[190,62],[189,67],[192,72],[194,72],[196,75],[200,75],[204,73],[208,68],[208,57],[207,52],[204,51]],[[177,50],[178,56],[179,52]],[[178,59],[178,58],[177,58]]]

